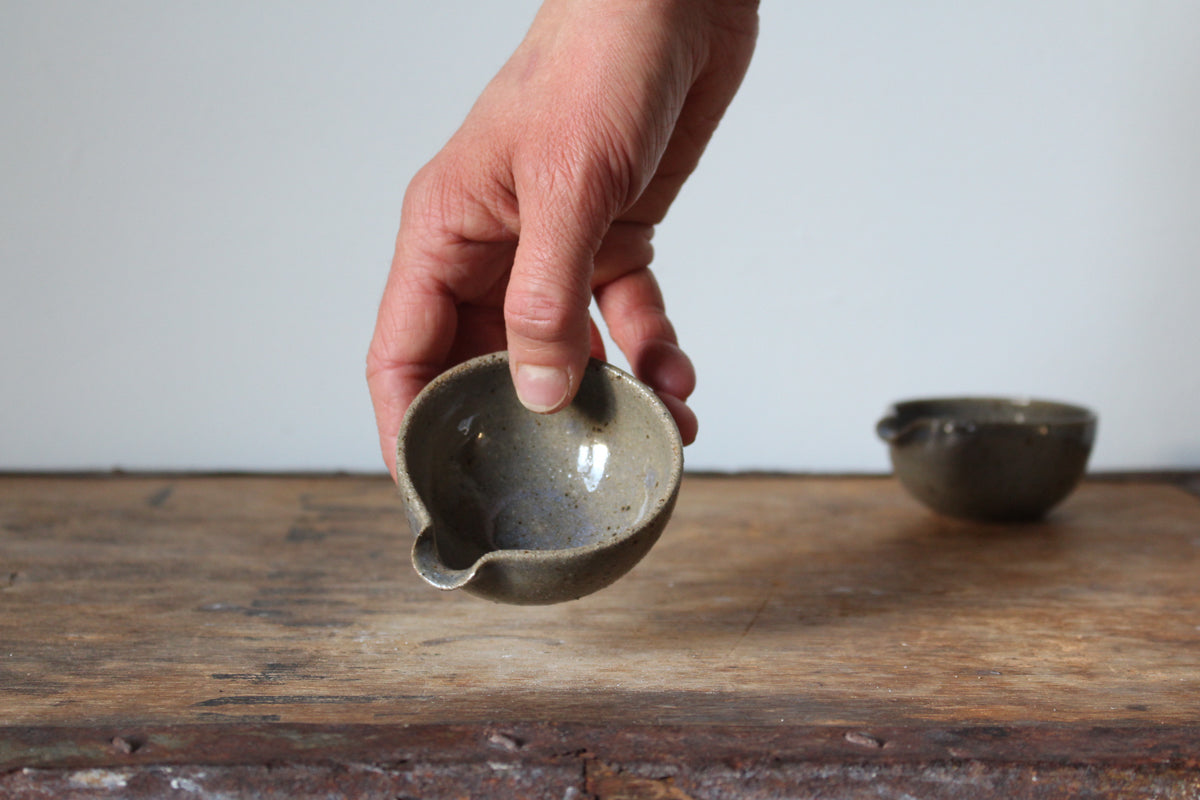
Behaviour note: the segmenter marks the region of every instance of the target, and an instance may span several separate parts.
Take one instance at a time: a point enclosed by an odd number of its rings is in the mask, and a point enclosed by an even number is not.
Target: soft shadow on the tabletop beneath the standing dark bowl
[[[845,528],[845,536],[800,525],[787,531],[786,547],[778,536],[774,546],[731,543],[703,569],[643,583],[646,621],[691,637],[881,614],[902,622],[916,614],[1012,613],[1086,582],[1093,560],[1069,513],[1034,524],[976,524],[914,510],[865,522]]]

